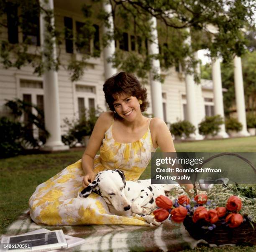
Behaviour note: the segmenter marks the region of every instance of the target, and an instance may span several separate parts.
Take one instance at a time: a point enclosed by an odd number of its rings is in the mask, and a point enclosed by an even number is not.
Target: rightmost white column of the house
[[[237,56],[235,56],[234,58],[234,79],[238,121],[243,125],[243,129],[240,132],[238,132],[238,134],[239,136],[250,136],[246,126],[246,108],[243,90],[242,63],[241,58]]]

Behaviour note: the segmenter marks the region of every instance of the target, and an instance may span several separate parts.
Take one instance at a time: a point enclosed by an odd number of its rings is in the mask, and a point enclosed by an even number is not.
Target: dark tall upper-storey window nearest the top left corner
[[[8,4],[7,10],[8,41],[11,44],[18,43],[18,7],[12,3]]]

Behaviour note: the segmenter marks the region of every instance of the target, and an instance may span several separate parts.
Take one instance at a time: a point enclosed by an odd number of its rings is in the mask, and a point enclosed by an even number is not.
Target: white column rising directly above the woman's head
[[[103,48],[103,55],[104,55],[104,70],[105,70],[105,79],[110,78],[115,73],[117,73],[116,68],[112,66],[111,62],[108,62],[108,58],[111,58],[115,53],[115,40],[114,40],[114,23],[113,23],[113,16],[112,16],[112,7],[109,2],[104,1],[102,4],[103,9],[105,12],[109,14],[108,23],[110,27],[106,25],[103,26],[103,34],[110,35],[111,40],[108,40],[108,45]]]

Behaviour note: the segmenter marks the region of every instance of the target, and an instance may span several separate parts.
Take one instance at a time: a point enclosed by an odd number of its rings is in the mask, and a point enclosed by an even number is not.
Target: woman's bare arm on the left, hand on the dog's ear
[[[83,177],[83,186],[88,186],[95,178],[93,172],[93,159],[100,149],[104,134],[110,127],[112,120],[111,112],[104,112],[100,115],[92,131],[92,135],[89,139],[89,143],[82,155],[82,168],[85,176]]]

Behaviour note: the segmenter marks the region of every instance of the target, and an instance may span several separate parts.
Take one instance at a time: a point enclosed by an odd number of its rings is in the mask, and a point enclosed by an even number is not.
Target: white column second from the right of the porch
[[[222,82],[220,71],[220,58],[212,59],[212,82],[214,94],[214,114],[220,115],[225,121]],[[220,132],[215,136],[216,138],[228,138],[225,130],[225,123],[220,125]]]

